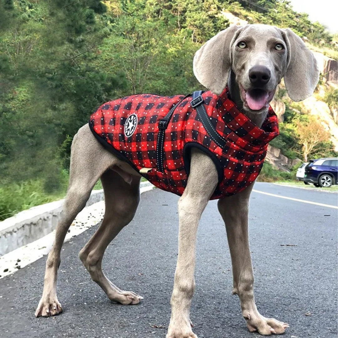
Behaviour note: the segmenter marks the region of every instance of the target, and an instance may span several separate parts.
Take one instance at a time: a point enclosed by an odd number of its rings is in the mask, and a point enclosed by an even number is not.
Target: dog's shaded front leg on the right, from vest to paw
[[[241,193],[218,201],[218,210],[225,222],[234,276],[233,293],[241,301],[242,314],[249,331],[262,335],[281,334],[289,326],[273,318],[263,317],[257,310],[254,298],[248,234],[249,197],[253,184]]]

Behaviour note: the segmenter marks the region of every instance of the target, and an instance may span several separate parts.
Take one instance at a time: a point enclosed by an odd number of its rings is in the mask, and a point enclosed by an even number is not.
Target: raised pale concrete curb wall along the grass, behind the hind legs
[[[151,186],[141,182],[141,187]],[[103,190],[93,190],[86,207],[104,199]],[[21,211],[0,222],[0,256],[51,233],[62,212],[64,199]]]

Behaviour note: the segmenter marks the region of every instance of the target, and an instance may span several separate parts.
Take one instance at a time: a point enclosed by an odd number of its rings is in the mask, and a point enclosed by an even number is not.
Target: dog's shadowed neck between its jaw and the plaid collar
[[[229,89],[231,100],[236,104],[238,109],[243,114],[245,114],[252,122],[254,122],[258,127],[261,127],[268,114],[268,108],[266,110],[263,110],[260,113],[256,113],[256,112],[253,112],[243,107],[243,101],[241,99],[240,89],[236,81],[236,76],[233,70],[231,70],[230,75],[229,75],[228,89]]]

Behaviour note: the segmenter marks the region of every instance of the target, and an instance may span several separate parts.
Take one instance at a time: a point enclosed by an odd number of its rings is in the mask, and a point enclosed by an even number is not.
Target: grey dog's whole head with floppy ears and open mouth
[[[250,113],[267,110],[283,77],[294,101],[311,96],[319,79],[313,53],[295,33],[260,24],[219,32],[196,52],[193,69],[215,94],[224,90],[232,70],[243,109]]]

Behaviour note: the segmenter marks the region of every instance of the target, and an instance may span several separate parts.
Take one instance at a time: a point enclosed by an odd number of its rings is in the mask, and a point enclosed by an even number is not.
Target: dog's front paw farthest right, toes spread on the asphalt
[[[271,334],[282,334],[289,327],[289,324],[274,318],[265,318],[262,315],[243,313],[246,320],[246,326],[250,332],[260,333],[261,335],[269,336]]]

